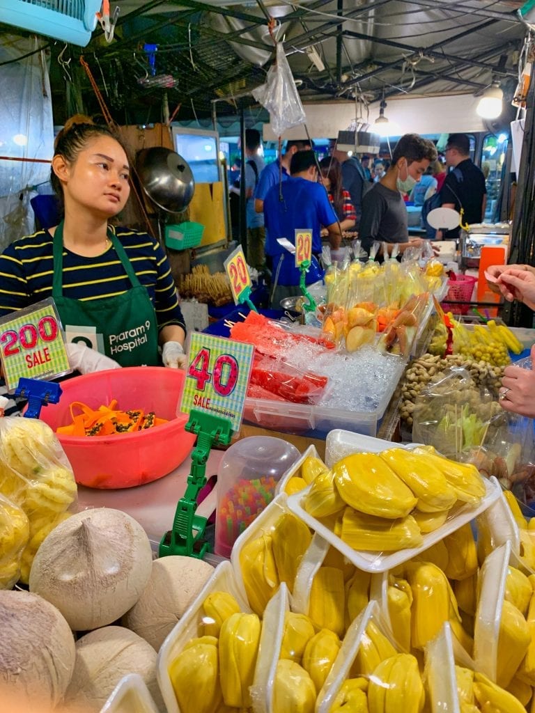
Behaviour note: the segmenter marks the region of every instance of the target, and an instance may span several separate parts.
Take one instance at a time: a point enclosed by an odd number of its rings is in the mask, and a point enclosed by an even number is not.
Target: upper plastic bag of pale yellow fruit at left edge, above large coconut
[[[77,501],[71,465],[54,431],[43,421],[0,418],[0,495],[29,521],[20,576],[27,583],[39,545],[70,515]]]

